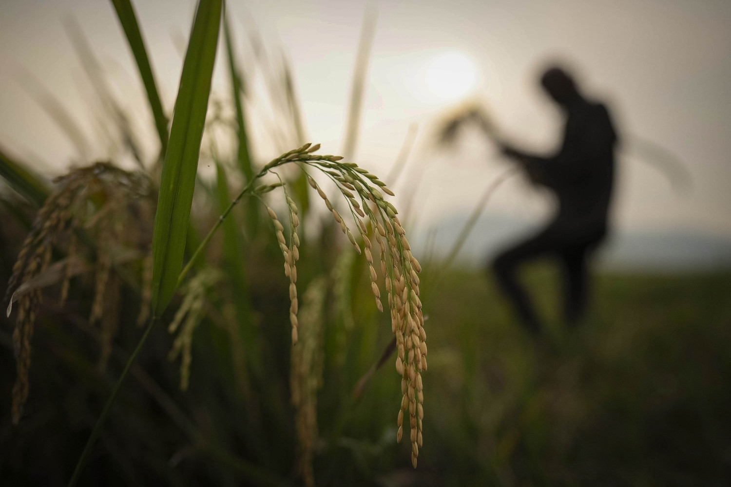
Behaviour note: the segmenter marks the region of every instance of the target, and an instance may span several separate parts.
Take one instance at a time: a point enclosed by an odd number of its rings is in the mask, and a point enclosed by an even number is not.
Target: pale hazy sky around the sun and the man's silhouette
[[[673,191],[652,166],[632,150],[624,151],[616,226],[731,237],[730,1],[373,3],[378,17],[355,160],[387,174],[409,126],[416,124],[417,143],[393,189],[415,191],[421,226],[470,212],[507,167],[476,134],[467,134],[452,152],[430,144],[439,118],[464,97],[488,107],[516,143],[547,153],[558,145],[560,115],[537,86],[541,67],[558,58],[577,69],[588,96],[608,104],[622,134],[664,147],[692,175],[692,191]],[[164,107],[170,110],[181,69],[175,39],[187,35],[194,2],[136,1],[135,7]],[[264,42],[281,47],[291,59],[306,131],[312,142],[322,142],[325,153],[342,150],[367,8],[366,1],[230,2],[240,52],[246,51],[246,26],[253,21]],[[49,164],[51,172],[61,172],[75,158],[64,134],[29,96],[23,70],[53,91],[92,133],[96,122],[64,31],[64,19],[73,15],[115,90],[128,101],[140,133],[150,136],[148,153],[154,153],[151,115],[110,2],[0,0],[0,9],[0,65],[7,66],[0,71],[2,147]],[[221,55],[218,61],[214,89],[225,91]],[[257,141],[254,153],[262,162],[275,155],[264,143],[257,147]],[[105,156],[105,147],[96,147],[94,156]],[[541,218],[548,202],[545,194],[515,179],[496,192],[489,208],[521,219]]]

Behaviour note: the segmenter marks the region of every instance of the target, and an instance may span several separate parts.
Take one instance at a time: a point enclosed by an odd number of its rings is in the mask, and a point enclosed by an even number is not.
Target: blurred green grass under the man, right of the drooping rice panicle
[[[528,279],[548,316],[553,274]],[[429,313],[425,471],[448,485],[728,478],[731,275],[602,275],[587,322],[569,332],[553,319],[539,343],[482,275],[452,273],[442,289]]]

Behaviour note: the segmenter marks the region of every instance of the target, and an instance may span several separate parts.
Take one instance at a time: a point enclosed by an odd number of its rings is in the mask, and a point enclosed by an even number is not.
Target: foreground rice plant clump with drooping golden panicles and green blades
[[[0,175],[20,198],[38,208],[5,296],[8,315],[12,310],[16,313],[12,421],[22,424],[27,415],[33,415],[33,408],[30,413],[27,408],[29,400],[34,407],[37,404],[31,374],[37,326],[44,334],[45,329],[69,334],[59,326],[66,319],[54,323],[54,316],[76,317],[85,310],[86,318],[74,318],[86,333],[80,339],[91,337],[98,342],[95,373],[115,373],[115,383],[88,433],[69,485],[85,475],[107,417],[114,415],[118,397],[125,395],[124,381],[132,375],[155,391],[154,399],[172,423],[183,425],[194,450],[230,470],[221,475],[279,483],[282,472],[294,466],[303,483],[312,486],[322,475],[317,474],[317,459],[327,458],[325,453],[330,452],[328,462],[337,462],[341,454],[333,449],[342,448],[352,407],[363,400],[362,390],[352,399],[349,389],[374,361],[385,339],[371,310],[364,311],[360,304],[358,312],[353,310],[352,303],[360,302],[366,286],[374,301],[371,309],[389,316],[396,344],[401,391],[400,399],[393,397],[393,405],[398,402],[399,407],[390,438],[401,442],[407,429],[411,464],[416,468],[423,446],[422,374],[427,369],[421,265],[412,254],[398,210],[387,201],[393,191],[355,162],[319,154],[319,144],[298,144],[266,164],[257,164],[251,152],[257,141],[246,130],[246,118],[252,115],[244,112],[242,102],[246,72],[239,68],[230,19],[225,18],[221,0],[200,0],[197,5],[168,129],[169,117],[157,93],[135,9],[129,0],[112,4],[148,97],[159,153],[145,158],[139,150],[124,106],[107,96],[94,53],[80,31],[74,31],[86,72],[94,77],[97,94],[107,101],[107,116],[119,129],[120,146],[126,147],[139,167],[128,171],[114,161],[90,161],[56,178],[49,189],[25,164],[0,154]],[[373,20],[369,22],[364,28],[370,29],[372,37]],[[221,30],[232,110],[222,108],[227,101],[211,91]],[[363,47],[359,55],[351,128],[346,135],[348,152],[355,147],[367,51]],[[276,92],[273,98],[286,100],[282,110],[289,115],[281,123],[289,128],[281,131],[285,134],[281,139],[297,139],[303,137],[299,108],[287,66],[284,73],[281,83],[272,81],[270,89]],[[229,113],[234,117],[229,118]],[[235,151],[227,154],[218,147],[235,147]],[[216,165],[214,185],[198,171],[202,160]],[[321,234],[302,230],[305,223],[327,214],[331,219],[323,223]],[[201,229],[205,234],[199,239]],[[330,258],[345,252],[362,258]],[[282,267],[284,272],[279,270]],[[350,281],[347,285],[330,279],[338,269]],[[48,288],[56,289],[56,297]],[[306,290],[301,311],[300,288]],[[282,295],[287,296],[286,304]],[[337,304],[330,306],[330,295],[340,296]],[[135,310],[132,319],[131,308]],[[344,320],[346,315],[349,321]],[[281,318],[287,320],[286,348],[281,342]],[[206,345],[198,345],[203,327],[211,329],[214,337],[213,355]],[[167,328],[171,337],[156,337],[158,328]],[[120,348],[122,337],[135,341],[129,355]],[[206,432],[185,418],[186,413],[167,399],[169,393],[137,367],[138,358],[152,360],[145,352],[148,340],[169,341],[167,359],[179,361],[176,382],[181,391],[195,394],[200,384],[210,382],[226,390],[226,396],[232,394],[225,407],[240,410],[243,416],[224,428],[238,431],[235,441],[243,442],[244,453],[231,452],[232,438],[226,434]],[[199,356],[220,361],[220,375],[197,375],[197,367],[201,374],[216,372]],[[281,367],[282,362],[290,366]],[[391,390],[398,391],[392,382]],[[340,386],[346,388],[340,390]],[[183,401],[197,401],[197,397]],[[378,402],[371,398],[374,401]],[[322,416],[323,410],[330,414]],[[384,415],[390,416],[371,408],[365,423],[386,428]],[[325,433],[319,431],[322,428]],[[275,445],[285,445],[285,453]]]

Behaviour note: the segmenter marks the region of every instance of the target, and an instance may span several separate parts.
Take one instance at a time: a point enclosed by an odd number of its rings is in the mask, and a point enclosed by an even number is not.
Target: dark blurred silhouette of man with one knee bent
[[[560,150],[548,157],[510,145],[503,145],[502,151],[520,164],[531,183],[556,195],[558,208],[548,226],[504,250],[492,265],[501,290],[533,334],[539,334],[540,322],[518,282],[518,266],[539,256],[555,258],[561,264],[564,318],[569,326],[580,320],[588,301],[588,261],[607,235],[618,143],[607,108],[584,98],[564,69],[548,69],[541,85],[566,118]]]

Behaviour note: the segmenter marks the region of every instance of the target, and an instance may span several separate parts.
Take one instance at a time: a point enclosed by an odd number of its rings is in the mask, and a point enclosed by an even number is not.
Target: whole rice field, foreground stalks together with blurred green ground
[[[0,485],[724,484],[731,275],[603,274],[583,326],[531,340],[480,270],[412,253],[387,184],[406,156],[383,179],[350,160],[374,18],[344,158],[261,60],[281,147],[257,153],[221,0],[197,4],[169,112],[132,3],[110,8],[159,150],[74,30],[110,155],[51,181],[0,147]],[[526,276],[550,316],[552,272]]]

